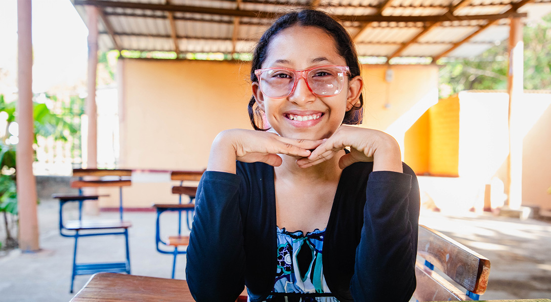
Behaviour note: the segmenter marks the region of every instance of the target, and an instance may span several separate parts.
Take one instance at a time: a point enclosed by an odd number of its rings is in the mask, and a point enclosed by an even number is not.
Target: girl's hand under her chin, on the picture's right
[[[341,169],[358,161],[374,161],[374,171],[402,172],[400,148],[393,137],[381,131],[346,125],[339,127],[309,157],[296,163],[308,168],[333,158],[344,147],[350,147],[350,153],[339,159]]]

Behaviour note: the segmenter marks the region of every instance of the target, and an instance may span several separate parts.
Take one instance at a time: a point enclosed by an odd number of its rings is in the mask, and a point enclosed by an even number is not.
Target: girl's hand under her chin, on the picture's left
[[[290,139],[275,133],[232,129],[220,132],[210,149],[207,170],[235,173],[235,160],[253,163],[261,161],[279,166],[283,160],[278,154],[308,157],[310,150],[323,141]]]

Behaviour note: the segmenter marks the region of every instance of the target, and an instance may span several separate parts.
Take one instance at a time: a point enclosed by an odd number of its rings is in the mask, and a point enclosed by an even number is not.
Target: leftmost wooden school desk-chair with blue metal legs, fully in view
[[[122,219],[122,187],[132,184],[129,177],[132,170],[104,170],[104,169],[74,169],[73,176],[78,179],[71,182],[71,187],[78,188],[78,195],[54,194],[53,198],[60,200],[60,234],[64,237],[74,238],[73,268],[71,277],[71,289],[73,292],[74,278],[77,275],[94,274],[97,272],[125,272],[130,273],[130,255],[128,251],[128,228],[131,222]],[[106,179],[107,178],[107,179]],[[116,179],[112,179],[116,178]],[[119,187],[119,217],[118,219],[83,219],[82,208],[84,201],[97,201],[99,197],[107,195],[85,195],[84,187]],[[70,202],[78,203],[78,219],[64,220],[64,205]],[[105,263],[77,263],[78,239],[88,236],[123,235],[126,243],[126,260],[122,262]]]

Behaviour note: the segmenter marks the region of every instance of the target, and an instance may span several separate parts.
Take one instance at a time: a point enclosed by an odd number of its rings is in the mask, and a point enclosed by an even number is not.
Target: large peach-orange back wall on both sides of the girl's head
[[[120,168],[201,170],[214,137],[228,128],[251,129],[249,63],[121,60]],[[437,66],[364,66],[364,127],[404,133],[437,102]],[[385,106],[388,104],[390,106]],[[170,183],[134,183],[125,188],[125,206],[176,202]],[[114,192],[115,193],[115,192]],[[116,195],[116,194],[114,194]],[[113,207],[116,199],[104,199]]]

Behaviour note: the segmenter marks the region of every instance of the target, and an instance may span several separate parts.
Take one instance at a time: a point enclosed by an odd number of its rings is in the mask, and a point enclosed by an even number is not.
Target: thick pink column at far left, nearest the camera
[[[19,207],[19,248],[40,250],[36,215],[36,182],[33,175],[33,44],[31,1],[17,1],[18,89],[17,202]]]

